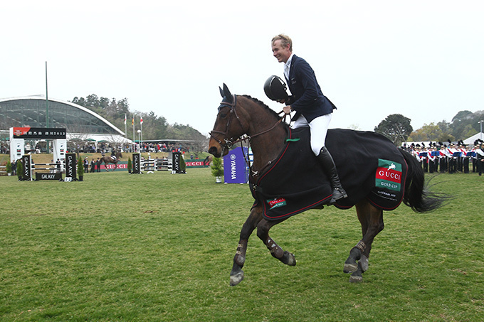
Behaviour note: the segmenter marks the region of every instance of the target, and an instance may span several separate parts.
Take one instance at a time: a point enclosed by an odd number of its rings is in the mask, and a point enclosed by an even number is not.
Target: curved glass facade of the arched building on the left
[[[62,127],[68,133],[122,134],[120,129],[84,107],[56,100],[48,100],[48,126],[46,100],[39,98],[13,98],[0,100],[0,127]]]

